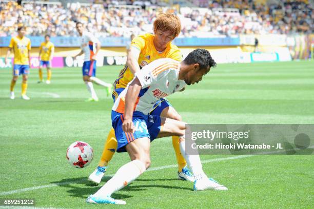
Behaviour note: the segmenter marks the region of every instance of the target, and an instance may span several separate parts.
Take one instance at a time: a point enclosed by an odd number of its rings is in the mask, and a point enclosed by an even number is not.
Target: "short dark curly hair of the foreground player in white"
[[[210,67],[216,67],[217,64],[210,56],[209,51],[206,49],[195,49],[194,51],[190,52],[187,57],[183,60],[185,64],[199,64],[200,69]]]

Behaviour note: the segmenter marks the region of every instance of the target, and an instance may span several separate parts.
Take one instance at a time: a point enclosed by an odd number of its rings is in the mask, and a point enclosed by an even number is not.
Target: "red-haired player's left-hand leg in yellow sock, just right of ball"
[[[112,92],[113,102],[123,90],[124,88],[119,88],[119,89],[115,89]],[[93,173],[89,175],[88,177],[89,181],[92,181],[95,184],[99,184],[101,182],[102,178],[104,177],[108,169],[108,164],[116,151],[116,148],[117,148],[117,141],[115,138],[114,129],[111,128],[107,136],[107,140],[105,142],[104,148],[103,148],[101,159],[98,163],[97,168],[94,170]]]

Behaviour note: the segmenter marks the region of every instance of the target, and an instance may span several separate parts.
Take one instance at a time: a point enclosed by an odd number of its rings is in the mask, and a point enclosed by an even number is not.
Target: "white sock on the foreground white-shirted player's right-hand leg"
[[[180,151],[191,169],[195,180],[208,178],[203,171],[200,155],[187,155],[185,153],[185,136],[180,137]]]

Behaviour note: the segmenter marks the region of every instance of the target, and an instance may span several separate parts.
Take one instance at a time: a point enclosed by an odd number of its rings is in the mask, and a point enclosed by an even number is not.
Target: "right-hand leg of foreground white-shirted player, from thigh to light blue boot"
[[[154,116],[156,117],[156,116]],[[202,163],[199,155],[188,155],[185,147],[185,122],[173,120],[170,118],[161,117],[161,130],[157,138],[167,136],[179,136],[180,137],[180,150],[184,156],[189,168],[192,170],[195,181],[193,190],[228,190],[227,187],[219,184],[213,179],[209,179],[204,173]]]

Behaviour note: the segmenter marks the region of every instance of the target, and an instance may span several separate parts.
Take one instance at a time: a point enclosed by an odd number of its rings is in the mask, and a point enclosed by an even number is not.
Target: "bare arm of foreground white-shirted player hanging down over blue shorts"
[[[132,121],[133,109],[141,89],[141,82],[139,78],[135,77],[135,79],[131,81],[125,96],[124,121],[122,123],[122,129],[125,132],[134,133],[135,131],[135,127]]]

